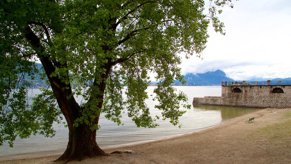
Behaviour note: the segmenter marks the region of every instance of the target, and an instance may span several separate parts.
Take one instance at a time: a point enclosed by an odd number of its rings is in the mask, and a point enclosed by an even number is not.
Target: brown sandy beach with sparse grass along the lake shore
[[[273,115],[272,110],[277,115]],[[246,123],[255,117],[254,122]],[[91,164],[291,163],[291,109],[262,109],[221,125],[154,142],[104,149],[110,156],[85,158]],[[0,157],[3,164],[58,164],[62,152]],[[61,163],[61,162],[60,162]]]

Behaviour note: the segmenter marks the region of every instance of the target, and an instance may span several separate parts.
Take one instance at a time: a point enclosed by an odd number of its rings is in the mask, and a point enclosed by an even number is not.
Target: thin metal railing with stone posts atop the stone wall
[[[291,85],[291,80],[283,81],[222,81],[222,86],[281,86],[281,85]]]

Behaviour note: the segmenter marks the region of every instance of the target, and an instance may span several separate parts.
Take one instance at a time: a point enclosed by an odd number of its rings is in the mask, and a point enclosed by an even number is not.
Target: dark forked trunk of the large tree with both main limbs
[[[32,47],[35,49],[38,57],[43,65],[43,68],[47,74],[48,80],[51,84],[54,96],[58,102],[65,119],[68,123],[69,128],[69,142],[66,151],[61,157],[56,161],[70,161],[70,160],[82,160],[84,157],[93,157],[93,156],[105,156],[108,155],[105,153],[96,142],[96,130],[91,130],[90,125],[85,123],[80,124],[78,127],[74,127],[76,119],[82,115],[79,104],[76,102],[72,96],[72,88],[70,83],[64,83],[61,78],[56,76],[51,76],[52,73],[56,70],[56,67],[61,67],[60,63],[56,59],[52,60],[49,54],[45,52],[45,48],[41,45],[40,39],[33,33],[29,25],[24,29],[24,35],[26,39],[31,43]],[[104,51],[107,50],[104,48]],[[66,63],[62,67],[67,67]],[[94,87],[97,87],[100,91],[99,94],[92,94],[88,102],[91,99],[103,100],[103,93],[106,86],[106,79],[108,77],[109,71],[111,69],[111,60],[109,59],[107,63],[104,64],[102,68],[106,69],[105,74],[101,75],[101,82],[94,80]],[[62,75],[65,76],[65,75]],[[69,77],[69,74],[66,75]],[[65,78],[65,77],[63,77]],[[96,110],[101,110],[103,101],[100,101],[98,108]],[[99,116],[93,121],[94,125],[98,124]]]

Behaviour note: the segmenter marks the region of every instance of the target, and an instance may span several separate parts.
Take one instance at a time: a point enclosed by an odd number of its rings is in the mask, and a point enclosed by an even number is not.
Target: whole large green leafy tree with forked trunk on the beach
[[[179,54],[201,53],[210,22],[223,34],[216,7],[231,6],[230,0],[210,2],[206,15],[203,0],[1,0],[0,143],[13,146],[16,136],[37,133],[52,137],[52,123],[64,117],[69,142],[57,160],[82,160],[107,155],[96,143],[100,113],[118,125],[127,111],[138,127],[154,128],[160,117],[180,126],[180,106],[189,105],[170,86],[185,83]],[[33,80],[38,61],[51,89],[28,104],[31,81],[24,77]],[[149,72],[159,81],[154,93],[161,115],[155,117],[144,103]]]

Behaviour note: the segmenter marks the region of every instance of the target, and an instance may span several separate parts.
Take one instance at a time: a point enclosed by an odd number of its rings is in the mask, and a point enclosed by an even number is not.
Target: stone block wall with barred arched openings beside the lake
[[[272,93],[274,88],[281,88],[284,93]],[[241,91],[241,93],[234,93],[234,89]],[[193,104],[250,108],[291,108],[291,86],[221,86],[221,97],[194,97]]]

